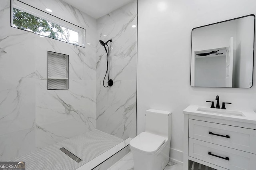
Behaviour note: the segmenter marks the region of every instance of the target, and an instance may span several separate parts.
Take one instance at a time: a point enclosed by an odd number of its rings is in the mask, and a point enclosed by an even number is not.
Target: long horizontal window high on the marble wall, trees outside
[[[85,47],[84,28],[19,1],[12,1],[11,13],[11,26],[14,28]]]

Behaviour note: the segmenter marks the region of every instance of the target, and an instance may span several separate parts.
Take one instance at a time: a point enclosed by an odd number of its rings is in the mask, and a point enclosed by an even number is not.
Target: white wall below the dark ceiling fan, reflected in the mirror
[[[226,86],[226,55],[196,58],[195,65],[196,87]]]

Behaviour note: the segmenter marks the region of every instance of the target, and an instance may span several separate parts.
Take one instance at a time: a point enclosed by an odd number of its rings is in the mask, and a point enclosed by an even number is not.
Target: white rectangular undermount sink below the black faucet
[[[214,108],[203,108],[198,107],[197,111],[200,112],[206,112],[206,113],[215,113],[219,115],[226,115],[226,116],[242,116],[244,117],[244,114],[240,111],[231,111],[231,110],[224,110],[224,109],[214,109]]]

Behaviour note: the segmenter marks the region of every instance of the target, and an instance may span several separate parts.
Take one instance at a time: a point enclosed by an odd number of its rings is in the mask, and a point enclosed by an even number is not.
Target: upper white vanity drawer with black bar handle
[[[256,154],[256,130],[189,119],[189,137]]]

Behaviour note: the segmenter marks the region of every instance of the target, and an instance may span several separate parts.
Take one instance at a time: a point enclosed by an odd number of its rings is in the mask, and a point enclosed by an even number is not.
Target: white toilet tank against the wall
[[[149,109],[146,111],[146,132],[163,136],[170,140],[172,132],[172,113]]]

